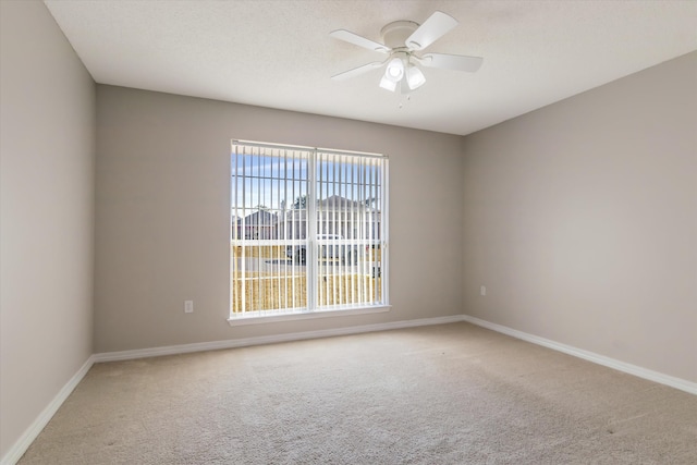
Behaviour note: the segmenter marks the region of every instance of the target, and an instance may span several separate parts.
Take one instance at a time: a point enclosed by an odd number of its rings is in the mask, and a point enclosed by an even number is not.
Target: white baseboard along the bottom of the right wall
[[[649,381],[655,381],[655,382],[665,384],[671,388],[680,389],[681,391],[685,391],[690,394],[697,395],[697,383],[695,382],[690,382],[681,378],[675,378],[669,375],[664,375],[662,372],[649,370],[647,368],[643,368],[636,365],[620,362],[614,358],[606,357],[604,355],[599,355],[594,352],[584,351],[582,348],[576,348],[571,345],[561,344],[555,341],[550,341],[549,339],[540,338],[534,334],[528,334],[523,331],[518,331],[509,327],[492,323],[486,320],[481,320],[479,318],[470,317],[468,315],[462,315],[461,321],[467,321],[473,325],[477,325],[482,328],[487,328],[492,331],[500,332],[502,334],[511,335],[513,338],[521,339],[523,341],[531,342],[534,344],[552,348],[554,351],[563,352],[564,354],[573,355],[575,357],[583,358],[585,360],[592,362],[598,365],[613,368],[619,371],[634,375],[639,378],[648,379]]]

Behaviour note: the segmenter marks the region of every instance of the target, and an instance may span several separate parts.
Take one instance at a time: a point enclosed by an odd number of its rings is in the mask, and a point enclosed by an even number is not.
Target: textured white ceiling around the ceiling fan
[[[697,1],[46,0],[96,82],[469,134],[697,50]],[[474,74],[424,69],[412,94],[381,70],[330,76],[382,54],[392,21],[440,10],[460,25],[427,51],[484,57]]]

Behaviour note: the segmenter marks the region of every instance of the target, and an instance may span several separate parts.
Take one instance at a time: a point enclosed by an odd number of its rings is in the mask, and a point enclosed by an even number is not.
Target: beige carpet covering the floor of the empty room
[[[467,323],[95,365],[28,464],[696,464],[697,396]]]

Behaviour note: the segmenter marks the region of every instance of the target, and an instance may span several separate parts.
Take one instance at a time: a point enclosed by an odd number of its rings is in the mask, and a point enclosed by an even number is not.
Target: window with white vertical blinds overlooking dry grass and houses
[[[388,159],[233,140],[230,320],[388,305]]]

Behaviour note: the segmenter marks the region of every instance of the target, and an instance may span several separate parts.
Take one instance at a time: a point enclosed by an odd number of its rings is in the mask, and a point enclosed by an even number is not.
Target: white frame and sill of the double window
[[[337,150],[337,149],[326,149],[320,147],[304,147],[304,146],[293,146],[293,145],[284,145],[284,144],[270,144],[270,143],[260,143],[260,142],[252,142],[252,140],[242,140],[242,139],[232,139],[231,140],[231,152],[230,152],[230,161],[231,161],[231,176],[230,176],[230,224],[233,224],[233,221],[239,218],[236,216],[237,206],[233,204],[233,197],[236,189],[235,176],[236,174],[233,171],[232,159],[235,155],[235,147],[244,146],[244,147],[257,147],[259,149],[280,149],[280,150],[298,150],[308,152],[307,158],[307,194],[306,197],[309,201],[306,205],[306,250],[307,250],[307,266],[306,266],[306,303],[305,307],[301,308],[283,308],[277,310],[247,310],[243,313],[235,313],[233,306],[233,299],[235,298],[234,292],[236,287],[236,283],[233,282],[233,254],[230,254],[230,266],[229,266],[229,280],[230,283],[230,299],[229,299],[229,317],[228,322],[231,326],[243,326],[243,325],[256,325],[256,323],[266,323],[266,322],[276,322],[276,321],[289,321],[289,320],[302,320],[302,319],[311,319],[311,318],[325,318],[325,317],[334,317],[334,316],[348,316],[348,315],[365,315],[365,314],[376,314],[376,313],[384,313],[390,311],[391,305],[389,299],[389,158],[382,154],[372,154],[372,152],[359,152],[359,151],[351,151],[351,150]],[[250,154],[255,156],[254,154]],[[265,157],[267,155],[257,154],[257,157]],[[333,305],[333,306],[318,306],[317,299],[318,297],[318,279],[322,276],[320,271],[320,266],[317,264],[317,250],[322,241],[317,238],[318,234],[330,235],[333,233],[325,233],[318,231],[318,221],[321,220],[320,216],[317,211],[317,186],[321,182],[320,178],[317,174],[317,166],[320,156],[347,156],[351,157],[351,164],[355,164],[355,160],[357,158],[369,158],[379,160],[379,169],[380,169],[380,182],[379,182],[379,198],[380,204],[377,206],[377,210],[379,212],[379,238],[374,240],[375,242],[370,243],[371,249],[375,248],[376,244],[379,244],[380,247],[380,267],[379,267],[379,277],[380,277],[380,301],[375,303],[358,303],[354,305]],[[323,159],[322,159],[323,160]],[[288,182],[289,178],[285,178],[284,182]],[[341,180],[343,181],[343,179]],[[321,199],[320,199],[321,200]],[[375,225],[375,216],[371,222],[369,223],[372,228]],[[234,227],[237,228],[236,225]],[[285,224],[283,225],[285,228]],[[284,234],[285,235],[285,234]],[[244,232],[242,237],[237,237],[237,240],[247,241]],[[294,244],[294,238],[283,238],[288,241],[286,244]],[[233,236],[230,236],[230,247],[232,248],[234,245]],[[284,246],[286,245],[284,244]],[[370,252],[371,254],[374,252]],[[375,265],[374,265],[375,266]],[[374,278],[375,278],[375,270]],[[342,274],[343,276],[343,274]]]

